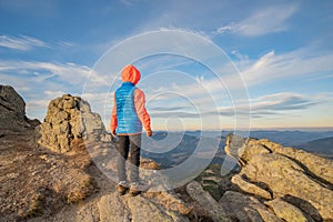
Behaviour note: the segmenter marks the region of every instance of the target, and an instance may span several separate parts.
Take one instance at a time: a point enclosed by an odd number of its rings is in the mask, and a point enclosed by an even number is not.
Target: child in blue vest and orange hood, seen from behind
[[[123,195],[130,186],[130,194],[137,195],[144,190],[139,178],[142,125],[147,137],[152,135],[150,117],[145,110],[142,90],[135,87],[140,71],[132,64],[121,71],[122,85],[115,90],[111,113],[111,134],[119,137],[118,151],[118,192]],[[125,161],[130,153],[130,184],[127,180]],[[147,189],[145,189],[147,190]]]

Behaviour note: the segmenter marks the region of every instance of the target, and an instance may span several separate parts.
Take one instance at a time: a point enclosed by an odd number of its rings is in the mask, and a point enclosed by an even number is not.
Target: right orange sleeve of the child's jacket
[[[134,104],[138,117],[145,129],[145,131],[151,131],[150,117],[145,110],[145,98],[142,90],[137,89],[134,92]]]

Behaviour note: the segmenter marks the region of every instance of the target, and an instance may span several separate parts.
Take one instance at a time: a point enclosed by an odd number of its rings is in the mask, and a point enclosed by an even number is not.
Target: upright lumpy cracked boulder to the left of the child
[[[40,132],[39,143],[59,153],[70,151],[75,140],[108,140],[100,115],[91,112],[87,101],[70,94],[49,103]]]

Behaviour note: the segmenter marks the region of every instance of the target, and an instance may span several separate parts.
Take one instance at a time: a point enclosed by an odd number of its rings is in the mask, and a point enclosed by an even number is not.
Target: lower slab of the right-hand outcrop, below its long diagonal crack
[[[333,191],[313,180],[296,162],[280,154],[253,157],[242,169],[253,181],[265,183],[274,198],[291,195],[305,200],[324,220],[333,219]],[[312,209],[309,209],[310,212]]]

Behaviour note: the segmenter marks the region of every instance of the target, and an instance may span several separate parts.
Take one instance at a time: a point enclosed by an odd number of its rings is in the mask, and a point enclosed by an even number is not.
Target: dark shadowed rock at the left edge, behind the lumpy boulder
[[[26,117],[26,102],[10,85],[0,84],[0,129],[22,130],[40,124]]]

